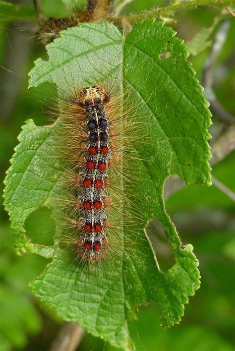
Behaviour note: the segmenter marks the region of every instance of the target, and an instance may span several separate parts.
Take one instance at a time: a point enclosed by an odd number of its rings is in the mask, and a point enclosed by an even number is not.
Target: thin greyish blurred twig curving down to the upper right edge
[[[224,109],[220,102],[216,99],[213,91],[213,65],[218,58],[221,49],[227,38],[227,33],[230,27],[230,20],[223,21],[218,32],[215,35],[214,43],[211,48],[209,57],[207,58],[202,71],[202,85],[205,88],[205,95],[210,101],[210,109],[219,119],[227,124],[235,123],[235,118]]]

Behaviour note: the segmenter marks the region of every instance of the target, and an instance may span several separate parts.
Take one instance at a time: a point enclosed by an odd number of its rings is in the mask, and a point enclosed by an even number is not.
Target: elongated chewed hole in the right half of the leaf
[[[155,220],[149,221],[146,234],[151,241],[160,268],[165,271],[171,268],[176,260],[161,223]]]

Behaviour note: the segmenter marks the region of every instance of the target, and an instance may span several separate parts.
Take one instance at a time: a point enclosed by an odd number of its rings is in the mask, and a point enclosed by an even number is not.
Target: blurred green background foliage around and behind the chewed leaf
[[[19,1],[18,1],[19,2]],[[33,0],[21,1],[33,6]],[[44,0],[43,11],[49,16],[64,16],[59,0]],[[135,0],[122,13],[166,6],[164,0]],[[222,10],[214,7],[177,12],[171,24],[186,43],[203,27],[210,27]],[[225,12],[223,12],[225,13]],[[235,19],[225,15],[228,31],[225,43],[213,65],[213,89],[216,99],[230,114],[235,115]],[[190,56],[197,78],[203,80],[203,67],[211,50],[220,22],[212,31],[205,50]],[[27,118],[37,125],[48,123],[43,113],[47,104],[37,90],[27,91],[27,73],[33,61],[46,58],[45,49],[36,42],[35,25],[19,20],[0,22],[0,177],[1,184],[9,159],[17,144],[17,135]],[[9,70],[9,71],[7,71]],[[213,113],[211,144],[225,133],[229,124],[220,114]],[[235,152],[213,166],[212,175],[235,191]],[[2,185],[1,185],[2,187]],[[145,351],[233,351],[234,350],[234,259],[235,207],[233,200],[216,186],[191,185],[172,194],[166,202],[168,213],[183,243],[192,243],[200,262],[201,288],[186,305],[179,325],[171,329],[159,326],[156,304],[142,307],[138,320],[129,322],[131,338],[137,350]],[[27,287],[47,264],[34,255],[17,257],[10,235],[8,215],[0,211],[0,350],[48,350],[62,321],[38,301]],[[173,264],[170,247],[164,234],[154,226],[154,248],[162,268]],[[54,223],[50,212],[42,208],[29,216],[27,234],[36,242],[52,242]],[[151,234],[153,236],[153,234]],[[86,335],[77,350],[113,350],[101,340]]]

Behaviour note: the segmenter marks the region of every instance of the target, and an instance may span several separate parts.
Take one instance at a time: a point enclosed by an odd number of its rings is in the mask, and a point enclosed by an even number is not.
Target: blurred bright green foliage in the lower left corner
[[[27,292],[27,285],[39,272],[35,264],[26,274],[24,260],[19,259],[14,251],[10,228],[1,227],[0,233],[0,345],[1,350],[22,349],[27,345],[27,334],[33,335],[41,329],[41,319],[33,304],[32,296]],[[27,256],[27,255],[26,255]],[[29,257],[25,258],[28,260]],[[40,258],[40,260],[43,260]],[[38,264],[39,263],[39,264]],[[43,268],[37,260],[37,266]]]

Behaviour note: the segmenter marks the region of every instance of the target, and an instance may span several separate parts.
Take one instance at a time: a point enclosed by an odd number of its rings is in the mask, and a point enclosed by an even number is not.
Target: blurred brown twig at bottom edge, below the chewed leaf
[[[74,351],[81,342],[85,328],[78,323],[66,322],[59,331],[59,335],[54,340],[50,351]]]

